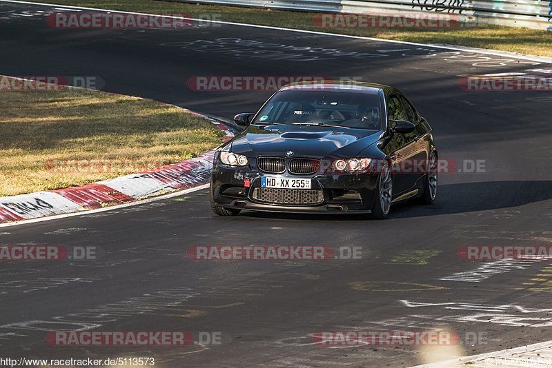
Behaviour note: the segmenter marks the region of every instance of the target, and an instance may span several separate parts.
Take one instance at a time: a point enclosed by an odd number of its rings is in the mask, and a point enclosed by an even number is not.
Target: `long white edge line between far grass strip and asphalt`
[[[365,39],[368,41],[377,41],[377,42],[386,42],[386,43],[402,43],[403,45],[415,45],[415,46],[430,46],[432,48],[440,48],[444,50],[455,50],[455,51],[464,51],[464,52],[476,52],[477,54],[487,54],[487,55],[494,55],[499,57],[515,57],[517,59],[523,59],[523,60],[529,60],[529,61],[538,61],[540,63],[550,63],[552,64],[552,59],[547,57],[536,57],[531,55],[524,55],[524,54],[515,54],[513,52],[501,52],[501,51],[491,51],[491,50],[484,50],[479,48],[467,48],[464,46],[453,46],[453,45],[435,45],[433,43],[415,43],[415,42],[408,42],[408,41],[395,41],[390,39],[377,39],[374,37],[362,37],[362,36],[351,36],[348,34],[337,34],[337,33],[328,33],[328,32],[317,32],[317,31],[310,31],[310,30],[295,30],[293,28],[282,28],[282,27],[274,27],[271,25],[257,25],[257,24],[246,24],[246,23],[235,23],[235,22],[228,22],[228,21],[213,21],[213,20],[206,20],[206,19],[195,19],[195,18],[187,18],[187,17],[174,17],[170,15],[162,15],[162,14],[148,14],[148,13],[141,13],[141,12],[125,12],[122,10],[110,10],[110,9],[101,9],[101,8],[86,8],[83,6],[63,6],[59,4],[52,4],[52,3],[35,3],[32,1],[19,1],[19,0],[0,0],[0,2],[3,3],[22,3],[22,4],[30,4],[30,5],[38,5],[38,6],[50,6],[50,7],[66,7],[66,8],[74,8],[74,9],[83,9],[83,10],[95,10],[100,12],[116,12],[121,14],[135,14],[135,15],[150,15],[153,17],[164,17],[164,18],[170,18],[170,19],[186,19],[190,21],[200,21],[200,22],[208,22],[208,23],[218,23],[218,24],[228,24],[228,25],[239,25],[242,27],[253,27],[253,28],[266,28],[269,30],[282,30],[286,32],[302,32],[302,33],[309,33],[309,34],[319,34],[322,36],[332,36],[332,37],[345,37],[348,39]]]

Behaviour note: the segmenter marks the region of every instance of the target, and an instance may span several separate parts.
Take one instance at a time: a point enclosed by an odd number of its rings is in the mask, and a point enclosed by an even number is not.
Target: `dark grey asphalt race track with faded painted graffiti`
[[[399,205],[384,221],[221,218],[210,211],[208,191],[200,190],[0,227],[2,245],[93,245],[104,253],[96,261],[2,263],[0,356],[141,356],[155,357],[156,367],[408,367],[428,356],[551,340],[549,261],[471,262],[457,252],[464,245],[551,245],[552,95],[464,91],[458,76],[546,75],[552,65],[240,25],[48,28],[45,15],[57,11],[0,2],[0,74],[100,76],[103,90],[226,119],[256,111],[272,92],[193,91],[186,86],[190,77],[311,75],[391,84],[431,123],[440,158],[460,165],[440,176],[434,205]],[[475,161],[484,161],[484,170],[462,167]],[[194,245],[362,247],[362,259],[197,262],[186,256]],[[468,274],[453,275],[460,272]],[[317,331],[437,327],[457,331],[464,344],[336,348],[312,338]],[[79,328],[220,332],[221,344],[59,347],[46,341],[47,331]],[[473,333],[482,338],[465,339]]]

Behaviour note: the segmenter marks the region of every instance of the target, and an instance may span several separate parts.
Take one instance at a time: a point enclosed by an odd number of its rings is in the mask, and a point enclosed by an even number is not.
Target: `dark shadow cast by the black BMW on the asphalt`
[[[440,185],[432,205],[401,203],[391,207],[388,218],[409,218],[462,214],[517,207],[552,198],[552,181],[485,181]],[[273,218],[302,221],[364,221],[368,216],[355,214],[283,214],[277,212],[244,212],[251,218]]]

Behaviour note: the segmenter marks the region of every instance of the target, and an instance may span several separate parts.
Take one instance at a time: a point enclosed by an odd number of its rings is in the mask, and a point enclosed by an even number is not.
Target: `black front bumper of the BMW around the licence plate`
[[[262,176],[311,178],[311,190],[320,190],[323,200],[313,204],[268,203],[254,198]],[[245,187],[248,178],[250,186]],[[266,174],[255,167],[229,167],[215,159],[211,179],[211,198],[221,207],[268,212],[294,213],[370,213],[377,188],[377,174]],[[300,190],[300,189],[298,189]]]

